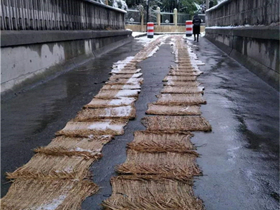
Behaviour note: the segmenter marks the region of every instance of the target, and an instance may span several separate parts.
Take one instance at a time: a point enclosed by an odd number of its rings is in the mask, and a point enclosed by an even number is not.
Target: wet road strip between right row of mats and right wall
[[[203,145],[195,194],[206,209],[279,209],[279,92],[208,40],[193,44],[213,129],[192,138]]]

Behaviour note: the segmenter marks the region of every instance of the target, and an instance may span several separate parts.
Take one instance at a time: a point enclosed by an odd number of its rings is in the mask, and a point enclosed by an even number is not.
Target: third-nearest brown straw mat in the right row
[[[138,152],[182,152],[197,154],[190,142],[192,135],[135,132],[134,140],[127,144],[129,149]]]

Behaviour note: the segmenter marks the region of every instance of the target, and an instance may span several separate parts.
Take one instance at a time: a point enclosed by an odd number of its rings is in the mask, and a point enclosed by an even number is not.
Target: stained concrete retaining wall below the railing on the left
[[[2,31],[1,92],[41,82],[132,39],[130,31]]]

